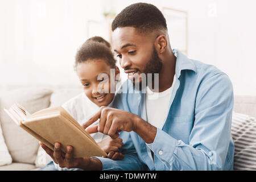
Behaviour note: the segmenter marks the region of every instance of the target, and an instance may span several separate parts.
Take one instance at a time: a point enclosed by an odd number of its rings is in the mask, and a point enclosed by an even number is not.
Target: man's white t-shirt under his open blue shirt
[[[162,129],[164,122],[166,121],[169,104],[172,95],[172,90],[176,81],[176,76],[174,76],[174,81],[172,86],[163,92],[152,92],[152,90],[147,86],[146,93],[146,111],[147,111],[147,122],[151,125]],[[150,148],[147,147],[147,152],[152,159]],[[152,159],[153,160],[153,159]]]

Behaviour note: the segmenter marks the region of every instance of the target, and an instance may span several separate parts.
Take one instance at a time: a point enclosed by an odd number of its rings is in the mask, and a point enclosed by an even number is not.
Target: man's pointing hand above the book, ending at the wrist
[[[100,123],[90,126],[100,118]],[[87,122],[83,127],[88,133],[101,132],[115,139],[119,136],[120,131],[134,131],[136,129],[138,115],[127,111],[102,106],[100,110]]]

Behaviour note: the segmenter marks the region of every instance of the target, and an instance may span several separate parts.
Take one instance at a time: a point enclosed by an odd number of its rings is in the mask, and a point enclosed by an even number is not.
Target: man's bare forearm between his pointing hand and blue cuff
[[[150,125],[142,118],[135,118],[135,133],[137,133],[146,143],[153,143],[156,136],[156,127]]]

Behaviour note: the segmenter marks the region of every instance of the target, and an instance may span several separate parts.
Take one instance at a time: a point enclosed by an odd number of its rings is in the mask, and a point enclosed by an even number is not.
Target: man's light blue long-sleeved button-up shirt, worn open
[[[98,158],[103,170],[233,170],[232,82],[213,65],[174,53],[177,80],[163,128],[150,144],[134,131],[122,131],[125,158]],[[114,107],[147,121],[146,94],[134,90],[130,80],[121,89]],[[154,152],[154,162],[146,146]]]

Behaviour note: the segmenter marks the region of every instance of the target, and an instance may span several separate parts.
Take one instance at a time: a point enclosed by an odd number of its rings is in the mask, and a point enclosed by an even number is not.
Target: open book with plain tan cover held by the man
[[[74,158],[106,155],[90,134],[61,106],[30,114],[22,106],[14,104],[5,111],[17,125],[52,150],[54,143],[60,142],[63,155],[68,145],[73,146]]]

